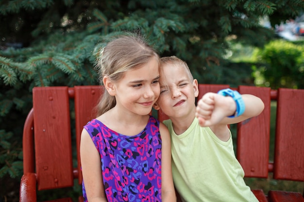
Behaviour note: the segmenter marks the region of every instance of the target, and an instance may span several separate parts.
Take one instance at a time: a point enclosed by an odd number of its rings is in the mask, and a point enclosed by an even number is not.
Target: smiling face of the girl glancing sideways
[[[114,87],[119,110],[149,114],[160,93],[158,61],[153,57],[148,63],[125,72]]]

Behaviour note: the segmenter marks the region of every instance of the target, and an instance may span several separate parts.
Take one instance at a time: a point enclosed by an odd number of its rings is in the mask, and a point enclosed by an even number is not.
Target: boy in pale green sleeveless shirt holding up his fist
[[[196,107],[198,81],[175,56],[161,59],[160,87],[154,108],[170,118],[164,124],[171,135],[173,181],[182,201],[258,202],[243,180],[227,124],[260,114],[262,100],[224,90],[204,94]],[[223,96],[227,94],[232,96]]]

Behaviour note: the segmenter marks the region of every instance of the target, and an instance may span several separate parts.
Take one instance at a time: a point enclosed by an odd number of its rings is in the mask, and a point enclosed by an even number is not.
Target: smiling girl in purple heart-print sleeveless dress
[[[169,131],[149,115],[160,94],[159,62],[135,35],[103,49],[100,114],[81,135],[84,202],[176,201]]]

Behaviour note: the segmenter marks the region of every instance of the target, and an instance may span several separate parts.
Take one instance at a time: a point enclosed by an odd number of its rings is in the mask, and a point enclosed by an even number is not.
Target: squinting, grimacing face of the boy
[[[176,64],[162,67],[160,95],[155,109],[161,109],[169,118],[182,118],[195,113],[195,97],[198,96],[198,82],[191,81],[186,69]]]

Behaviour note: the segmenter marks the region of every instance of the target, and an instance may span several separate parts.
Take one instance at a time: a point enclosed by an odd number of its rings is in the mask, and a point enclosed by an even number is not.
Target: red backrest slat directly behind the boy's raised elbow
[[[236,158],[245,177],[268,177],[270,144],[270,88],[239,86],[241,94],[253,94],[262,99],[262,113],[237,124]]]

